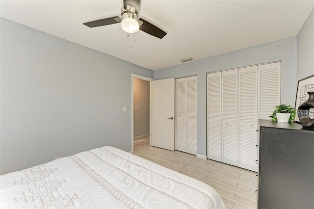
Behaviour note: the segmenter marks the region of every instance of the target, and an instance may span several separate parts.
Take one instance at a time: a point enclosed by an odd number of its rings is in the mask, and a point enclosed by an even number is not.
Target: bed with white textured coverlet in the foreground
[[[209,185],[114,147],[0,176],[0,208],[225,209]]]

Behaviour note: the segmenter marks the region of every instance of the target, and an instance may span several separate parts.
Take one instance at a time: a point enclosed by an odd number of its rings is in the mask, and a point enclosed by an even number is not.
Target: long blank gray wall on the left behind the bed
[[[3,18],[0,26],[1,174],[106,145],[131,151],[131,74],[153,71]]]

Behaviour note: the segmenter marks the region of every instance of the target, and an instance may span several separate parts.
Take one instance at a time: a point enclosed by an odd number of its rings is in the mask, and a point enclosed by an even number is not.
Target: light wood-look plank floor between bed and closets
[[[257,173],[180,151],[149,145],[149,137],[134,140],[134,155],[183,173],[213,187],[227,209],[256,209]]]

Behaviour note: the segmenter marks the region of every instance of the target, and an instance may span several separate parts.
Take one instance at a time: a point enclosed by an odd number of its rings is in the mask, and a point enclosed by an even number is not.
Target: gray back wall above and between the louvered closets
[[[236,41],[236,40],[235,40]],[[206,46],[204,46],[206,47]],[[193,57],[193,54],[191,54]],[[198,61],[155,71],[155,79],[197,77],[197,153],[207,155],[206,139],[206,73],[249,65],[282,61],[281,103],[295,103],[296,37],[243,50],[212,56]]]

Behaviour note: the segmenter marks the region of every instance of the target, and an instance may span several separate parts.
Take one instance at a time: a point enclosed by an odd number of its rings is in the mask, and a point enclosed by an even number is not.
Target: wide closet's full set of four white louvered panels
[[[281,62],[207,75],[208,158],[258,170],[258,119],[280,104]]]

